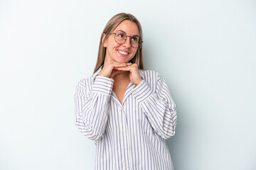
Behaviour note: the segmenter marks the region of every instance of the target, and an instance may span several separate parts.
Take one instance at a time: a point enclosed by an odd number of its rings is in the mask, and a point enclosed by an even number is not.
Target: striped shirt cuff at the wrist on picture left
[[[113,79],[97,76],[92,86],[92,91],[110,95],[112,93],[113,84]]]

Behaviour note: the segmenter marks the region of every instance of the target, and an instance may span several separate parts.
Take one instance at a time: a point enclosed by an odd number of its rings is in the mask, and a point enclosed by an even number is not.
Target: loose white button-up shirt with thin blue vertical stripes
[[[130,83],[120,103],[114,80],[97,75],[101,69],[75,93],[76,125],[95,141],[95,169],[173,170],[165,140],[175,133],[177,115],[164,79],[139,69],[142,82]]]

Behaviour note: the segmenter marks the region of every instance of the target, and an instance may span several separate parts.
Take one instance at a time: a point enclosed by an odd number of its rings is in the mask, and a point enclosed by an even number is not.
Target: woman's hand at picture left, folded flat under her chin
[[[116,74],[125,72],[122,70],[119,70],[118,68],[127,67],[132,65],[132,63],[118,63],[118,62],[105,62],[104,67],[100,71],[99,76],[102,77],[108,77],[110,79],[113,79],[113,77]]]

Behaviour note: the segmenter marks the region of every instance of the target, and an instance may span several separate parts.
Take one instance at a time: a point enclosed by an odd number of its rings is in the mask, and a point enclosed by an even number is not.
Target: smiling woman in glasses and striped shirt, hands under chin
[[[119,13],[103,30],[95,73],[76,89],[76,125],[95,140],[95,169],[174,169],[165,140],[176,106],[164,79],[143,70],[142,27]]]

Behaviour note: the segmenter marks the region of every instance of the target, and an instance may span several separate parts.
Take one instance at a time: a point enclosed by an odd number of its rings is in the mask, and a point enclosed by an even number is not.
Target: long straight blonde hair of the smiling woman
[[[100,38],[100,45],[99,45],[99,51],[98,51],[98,57],[97,57],[97,63],[95,65],[94,73],[97,71],[97,69],[104,64],[105,61],[105,55],[106,55],[106,47],[103,47],[103,43],[107,38],[109,33],[111,33],[117,26],[119,26],[120,23],[124,20],[129,20],[137,24],[139,29],[139,37],[142,40],[142,26],[140,25],[139,21],[135,16],[132,16],[132,14],[129,13],[118,13],[117,15],[113,16],[110,21],[108,21],[107,25],[105,26],[101,38]],[[105,35],[105,38],[102,40],[103,36]],[[144,63],[143,63],[143,50],[142,50],[142,43],[139,45],[136,54],[130,60],[129,62],[137,63],[139,69],[144,69]]]

